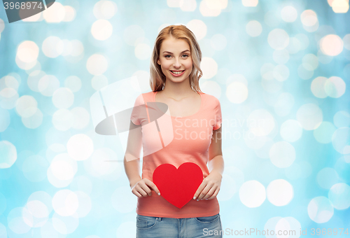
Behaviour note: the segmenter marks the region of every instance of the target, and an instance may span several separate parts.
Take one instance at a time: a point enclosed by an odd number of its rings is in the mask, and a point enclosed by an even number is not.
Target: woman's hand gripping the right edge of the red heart
[[[221,179],[223,176],[218,172],[211,172],[205,179],[203,179],[200,187],[198,187],[195,198],[199,200],[212,200],[218,195],[221,186]]]

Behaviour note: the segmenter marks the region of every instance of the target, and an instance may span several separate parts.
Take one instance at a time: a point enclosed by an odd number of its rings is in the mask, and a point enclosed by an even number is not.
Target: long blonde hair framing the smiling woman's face
[[[184,40],[190,45],[191,57],[193,62],[193,69],[190,73],[190,86],[195,92],[202,92],[200,90],[200,78],[203,75],[200,69],[200,62],[202,61],[202,51],[200,45],[197,42],[195,34],[184,25],[170,25],[160,31],[153,47],[152,60],[150,64],[150,85],[153,92],[164,89],[165,75],[162,72],[162,68],[157,64],[160,56],[160,46],[162,42],[167,38],[174,37],[176,39]]]

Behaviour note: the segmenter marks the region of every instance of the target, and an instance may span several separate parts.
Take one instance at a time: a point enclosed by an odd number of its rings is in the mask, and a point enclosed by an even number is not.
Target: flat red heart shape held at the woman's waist
[[[202,169],[193,162],[183,163],[179,169],[170,164],[159,165],[153,172],[153,183],[160,195],[179,209],[193,199],[202,181]]]

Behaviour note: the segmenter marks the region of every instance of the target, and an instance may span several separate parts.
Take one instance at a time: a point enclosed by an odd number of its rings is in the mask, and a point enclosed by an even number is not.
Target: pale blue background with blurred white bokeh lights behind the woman
[[[221,101],[223,229],[348,237],[349,14],[349,0],[67,0],[8,24],[1,6],[0,238],[135,237],[123,149],[94,132],[89,99],[131,76],[150,92],[172,24],[195,33],[200,87]]]

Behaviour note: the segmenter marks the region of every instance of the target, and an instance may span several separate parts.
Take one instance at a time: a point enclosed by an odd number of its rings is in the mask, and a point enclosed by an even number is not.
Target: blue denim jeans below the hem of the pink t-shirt
[[[137,238],[223,237],[220,214],[195,218],[162,218],[137,214]]]

